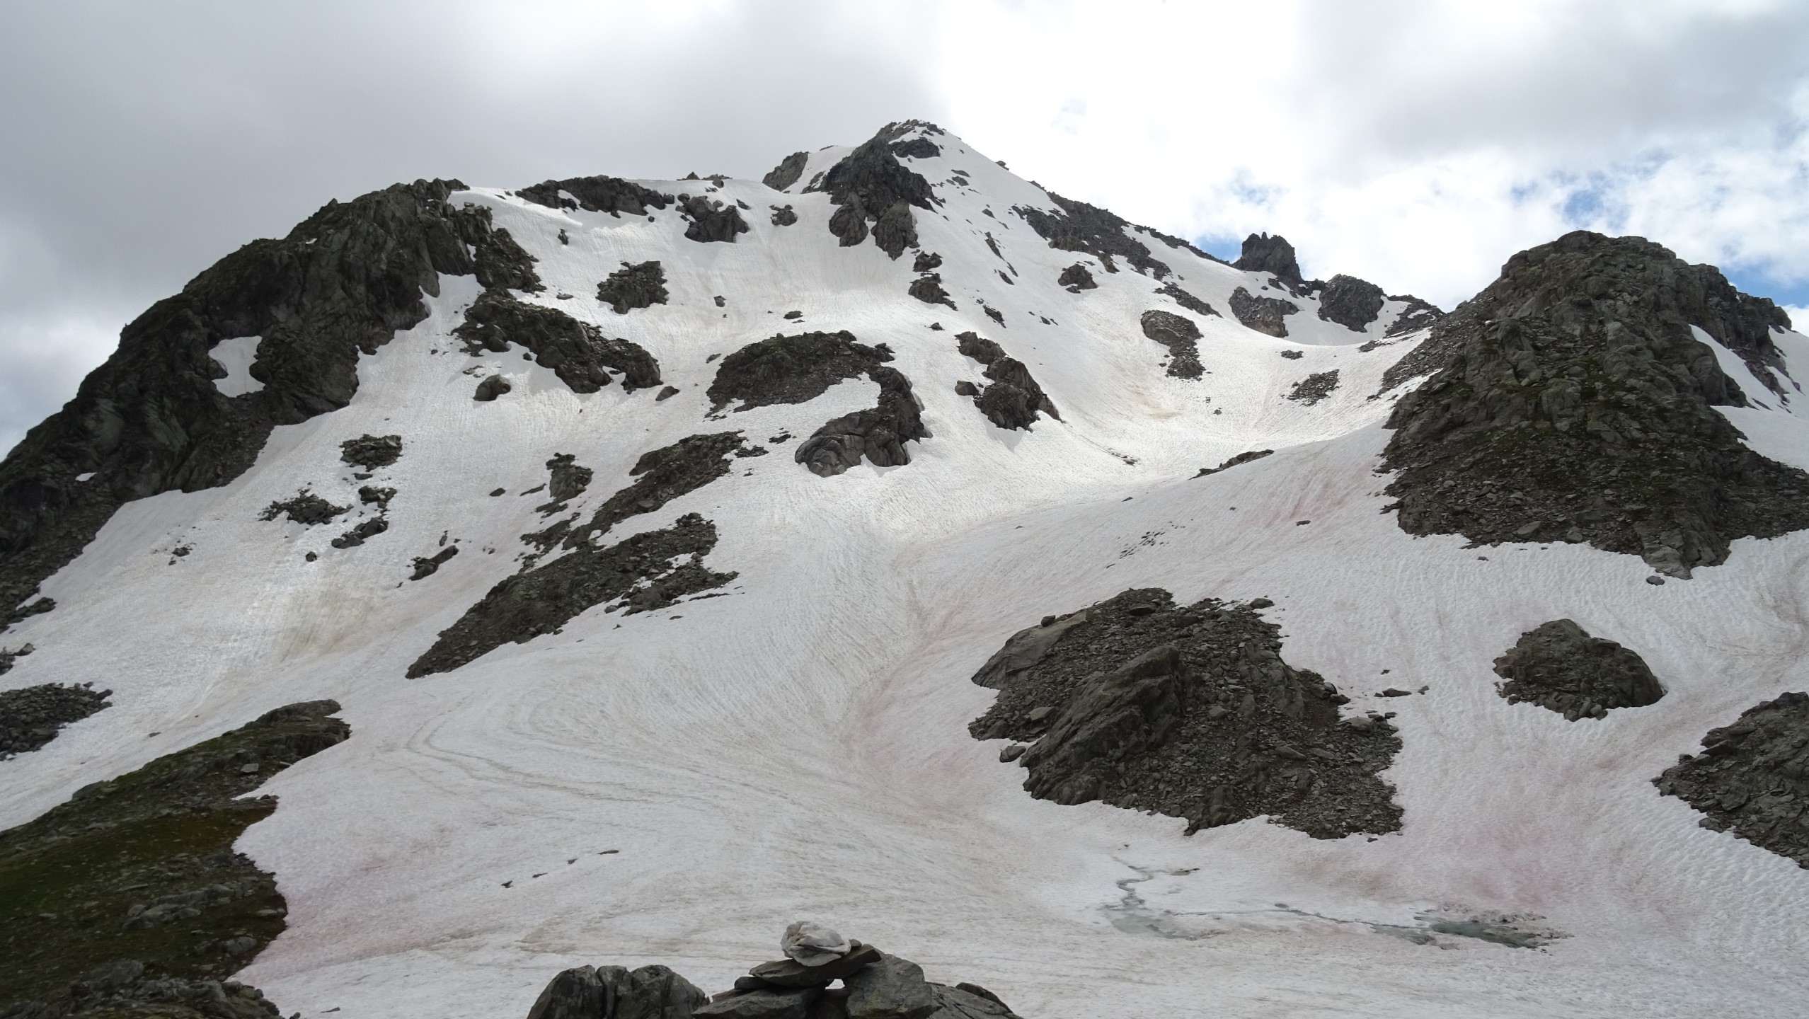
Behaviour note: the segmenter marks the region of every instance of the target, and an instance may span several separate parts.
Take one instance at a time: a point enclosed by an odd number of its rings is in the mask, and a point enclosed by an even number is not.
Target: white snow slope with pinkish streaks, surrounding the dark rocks
[[[1228,313],[1237,286],[1261,293],[1268,277],[1138,235],[1225,317],[1187,313],[1129,266],[1049,248],[1009,212],[1055,210],[1042,188],[933,141],[941,156],[908,165],[944,205],[917,210],[917,233],[959,311],[906,297],[910,252],[829,233],[829,199],[803,186],[848,148],[812,154],[789,194],[709,190],[751,206],[734,244],[686,241],[671,210],[454,195],[539,259],[546,291],[523,299],[644,346],[680,393],[575,395],[514,349],[465,357],[449,331],[478,288],[443,277],[431,317],[360,362],[349,407],[279,427],[226,487],[128,503],[45,585],[58,610],[7,633],[38,652],[5,686],[92,679],[114,708],[4,766],[0,827],[273,706],[333,697],[353,738],[273,778],[279,811],[241,842],[289,901],[288,932],[242,974],[284,1012],[523,1015],[581,963],[668,963],[718,990],[814,918],[1026,1017],[1800,1015],[1809,872],[1697,827],[1650,780],[1708,728],[1809,684],[1809,534],[1737,541],[1726,565],[1664,586],[1637,557],[1586,547],[1411,538],[1378,512],[1375,474],[1402,389],[1373,395],[1413,344],[1359,351],[1395,302],[1355,333],[1293,299],[1295,335],[1277,340]],[[771,224],[772,205],[798,223]],[[646,259],[662,261],[669,304],[619,317],[593,299]],[[1076,261],[1098,290],[1056,284]],[[1199,324],[1201,380],[1163,375],[1165,349],[1138,328],[1151,308]],[[867,380],[706,420],[713,355],[803,329],[890,344],[933,433],[910,465],[818,478],[792,463],[819,424],[872,405]],[[980,373],[955,349],[962,329],[1029,366],[1062,420],[1000,431],[957,396]],[[1780,337],[1798,376],[1802,344]],[[223,386],[248,378],[223,366]],[[1284,398],[1331,367],[1330,398]],[[474,369],[512,393],[472,402]],[[1726,411],[1755,449],[1809,467],[1802,418],[1735,378],[1769,404]],[[403,679],[519,568],[519,536],[543,518],[517,492],[546,480],[546,458],[595,471],[573,503],[588,514],[642,452],[724,429],[772,454],[610,538],[700,512],[722,534],[707,565],[740,574],[729,597],[599,606]],[[767,442],[787,431],[800,438]],[[403,438],[373,481],[338,460],[364,433]],[[1248,449],[1277,452],[1192,476]],[[356,505],[360,483],[398,490],[389,530],[362,547],[327,543],[355,516],[259,519],[300,487]],[[407,581],[441,536],[461,554]],[[177,545],[192,554],[172,557]],[[1031,800],[1000,744],[968,737],[995,697],[968,677],[1018,628],[1129,586],[1272,597],[1290,664],[1339,684],[1350,709],[1398,711],[1406,749],[1384,778],[1404,829],[1319,842],[1250,820],[1185,838],[1174,818]],[[1491,661],[1558,617],[1637,650],[1668,695],[1596,724],[1507,704]],[[1375,700],[1382,686],[1425,693]],[[1476,916],[1561,938],[1404,936]]]

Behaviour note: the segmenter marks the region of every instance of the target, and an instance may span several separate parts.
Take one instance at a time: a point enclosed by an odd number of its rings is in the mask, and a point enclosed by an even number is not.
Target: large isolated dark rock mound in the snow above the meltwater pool
[[[1400,827],[1377,773],[1400,740],[1386,717],[1281,659],[1264,599],[1176,606],[1127,590],[1013,635],[975,675],[999,690],[975,738],[1031,744],[1024,787],[1187,818],[1187,831],[1270,814],[1313,838]]]

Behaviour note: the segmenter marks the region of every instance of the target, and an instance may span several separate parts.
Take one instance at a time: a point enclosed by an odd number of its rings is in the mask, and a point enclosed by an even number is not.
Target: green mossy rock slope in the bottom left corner
[[[0,1015],[275,1019],[255,988],[221,983],[286,914],[233,842],[277,809],[248,793],[346,740],[335,711],[277,708],[0,833]]]

